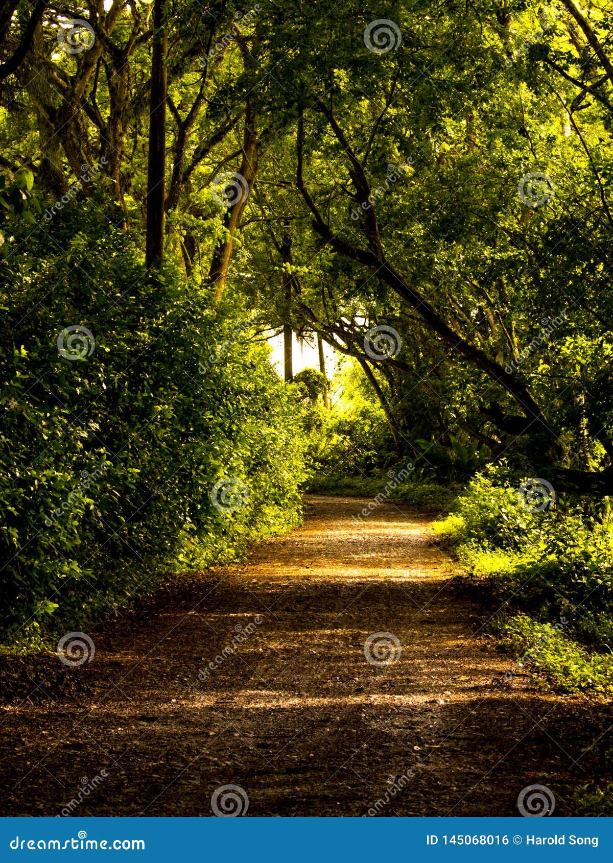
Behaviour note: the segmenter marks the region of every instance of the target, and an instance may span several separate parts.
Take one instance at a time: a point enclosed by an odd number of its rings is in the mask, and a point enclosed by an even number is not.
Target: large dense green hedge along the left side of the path
[[[300,520],[304,478],[301,408],[249,328],[152,279],[94,204],[33,236],[0,268],[4,638],[236,558]]]

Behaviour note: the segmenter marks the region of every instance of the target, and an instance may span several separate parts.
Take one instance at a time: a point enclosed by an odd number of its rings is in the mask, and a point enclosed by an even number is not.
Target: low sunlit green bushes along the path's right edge
[[[564,510],[528,512],[519,493],[523,480],[515,476],[509,487],[512,480],[507,463],[486,469],[435,529],[497,603],[522,610],[502,632],[508,646],[528,651],[534,671],[566,691],[609,692],[613,524],[571,501],[564,501]],[[552,620],[565,625],[556,628]]]

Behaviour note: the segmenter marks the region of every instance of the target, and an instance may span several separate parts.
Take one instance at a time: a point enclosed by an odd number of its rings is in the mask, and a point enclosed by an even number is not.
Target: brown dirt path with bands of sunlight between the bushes
[[[309,497],[248,565],[91,633],[91,663],[39,659],[3,708],[2,814],[58,815],[80,789],[73,815],[210,816],[236,784],[254,816],[516,815],[535,783],[581,814],[610,707],[507,682],[428,517],[384,504],[356,525],[363,505]],[[395,662],[367,660],[372,633]]]

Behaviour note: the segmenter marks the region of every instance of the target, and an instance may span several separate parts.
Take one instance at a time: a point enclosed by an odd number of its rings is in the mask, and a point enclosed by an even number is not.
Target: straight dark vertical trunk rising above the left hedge
[[[148,267],[164,257],[164,199],[166,175],[166,0],[155,0],[154,40],[151,56],[151,101],[149,113],[149,165],[147,173]]]

